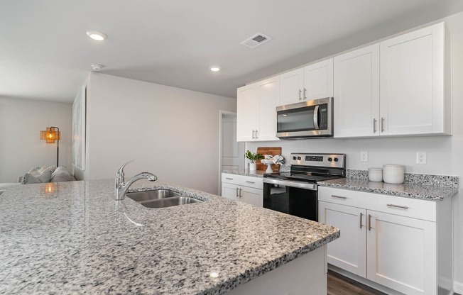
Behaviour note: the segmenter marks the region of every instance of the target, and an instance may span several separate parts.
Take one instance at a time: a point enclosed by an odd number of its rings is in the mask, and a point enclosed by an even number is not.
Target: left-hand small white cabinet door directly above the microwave
[[[295,104],[303,100],[304,68],[280,74],[280,104]]]

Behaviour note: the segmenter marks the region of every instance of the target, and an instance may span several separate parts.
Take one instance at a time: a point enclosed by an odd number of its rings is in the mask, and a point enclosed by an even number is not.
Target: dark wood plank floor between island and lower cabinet
[[[386,295],[369,286],[355,282],[336,272],[328,271],[328,295]]]

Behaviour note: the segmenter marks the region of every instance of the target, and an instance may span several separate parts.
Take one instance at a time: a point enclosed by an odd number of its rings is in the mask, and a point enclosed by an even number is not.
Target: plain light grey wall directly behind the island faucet
[[[107,74],[87,80],[85,179],[149,171],[158,179],[218,194],[219,110],[236,99]]]

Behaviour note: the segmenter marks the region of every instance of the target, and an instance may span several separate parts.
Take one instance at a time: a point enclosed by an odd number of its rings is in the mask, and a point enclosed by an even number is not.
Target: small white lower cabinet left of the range
[[[263,206],[263,182],[259,177],[222,173],[222,196],[251,205]]]

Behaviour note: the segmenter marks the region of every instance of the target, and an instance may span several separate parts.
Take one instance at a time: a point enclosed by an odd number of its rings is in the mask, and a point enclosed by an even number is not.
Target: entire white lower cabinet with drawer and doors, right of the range
[[[319,201],[319,221],[341,230],[328,244],[329,264],[402,294],[451,294],[451,198],[319,187]]]

